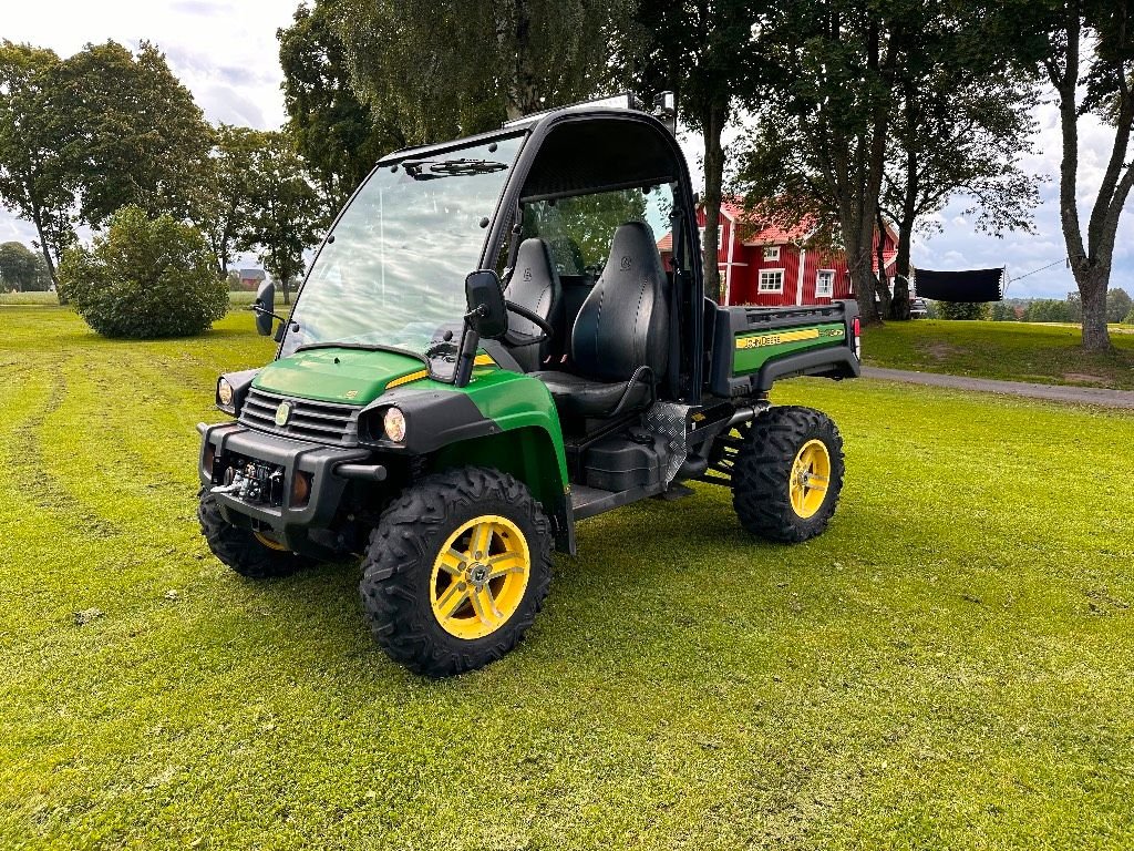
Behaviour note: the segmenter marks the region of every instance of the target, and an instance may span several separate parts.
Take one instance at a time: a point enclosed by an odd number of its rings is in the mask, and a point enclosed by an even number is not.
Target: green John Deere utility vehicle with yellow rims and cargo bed
[[[508,652],[575,525],[730,488],[753,534],[827,526],[835,424],[778,379],[858,374],[853,302],[704,296],[670,127],[581,104],[382,159],[339,214],[276,360],[201,424],[201,528],[251,578],[361,554],[379,644],[443,676]],[[721,521],[725,522],[725,521]]]

